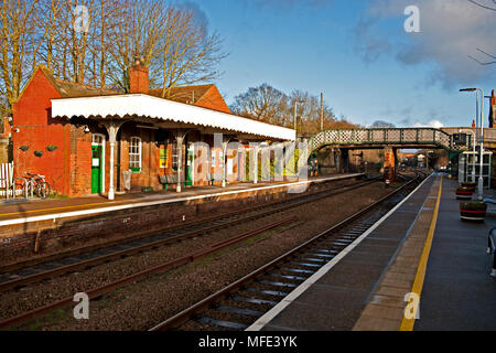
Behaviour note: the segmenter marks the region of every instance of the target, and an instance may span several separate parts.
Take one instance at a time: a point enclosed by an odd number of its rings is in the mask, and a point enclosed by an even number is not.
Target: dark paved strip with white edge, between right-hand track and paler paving
[[[434,181],[434,178],[424,181],[387,222],[364,235],[359,244],[358,240],[355,242],[355,248],[334,258],[303,284],[299,293],[291,293],[248,330],[353,330],[385,269],[395,259],[414,224]],[[405,290],[402,295],[405,296]]]

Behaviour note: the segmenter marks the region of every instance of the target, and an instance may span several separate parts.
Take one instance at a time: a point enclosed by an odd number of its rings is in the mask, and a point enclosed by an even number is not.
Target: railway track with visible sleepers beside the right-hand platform
[[[409,190],[420,179],[419,175],[375,204],[159,323],[151,331],[246,330],[369,229],[398,203],[391,199]]]

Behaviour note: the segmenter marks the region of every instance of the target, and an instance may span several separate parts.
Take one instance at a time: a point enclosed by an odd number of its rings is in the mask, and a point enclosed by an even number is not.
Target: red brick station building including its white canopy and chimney
[[[53,191],[71,197],[114,200],[116,192],[158,191],[165,182],[180,192],[214,179],[248,180],[248,142],[295,139],[292,129],[230,114],[215,85],[176,88],[172,99],[161,92],[149,89],[139,62],[130,94],[68,83],[37,67],[13,105],[14,176],[45,175]]]

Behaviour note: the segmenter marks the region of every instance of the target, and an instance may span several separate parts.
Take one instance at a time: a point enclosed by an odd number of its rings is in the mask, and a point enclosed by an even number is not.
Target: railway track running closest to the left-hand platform
[[[148,236],[144,236],[143,234],[139,234],[138,236],[125,239],[123,242],[116,240],[104,246],[89,246],[47,256],[46,258],[1,266],[0,292],[15,290],[41,280],[55,278],[65,274],[86,270],[100,264],[142,254],[175,242],[205,235],[220,228],[236,226],[254,220],[260,220],[302,204],[369,185],[377,180],[378,179],[376,178],[359,181],[339,189],[321,191],[310,195],[270,203],[268,205],[248,207],[231,212],[227,215],[211,217],[207,220],[202,220],[202,222],[183,225],[182,227],[170,227],[169,229],[160,233],[155,231],[153,235],[148,234]]]

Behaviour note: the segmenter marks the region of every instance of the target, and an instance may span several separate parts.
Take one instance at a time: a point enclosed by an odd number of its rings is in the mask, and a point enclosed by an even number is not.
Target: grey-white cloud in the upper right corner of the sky
[[[403,11],[411,4],[420,9],[420,33],[403,31]],[[397,31],[389,24],[395,20]],[[466,0],[374,0],[355,29],[356,49],[365,61],[389,54],[406,65],[434,63],[430,78],[446,87],[473,84],[496,77],[495,65],[468,57],[490,60],[477,49],[496,55],[495,20],[495,11]]]

